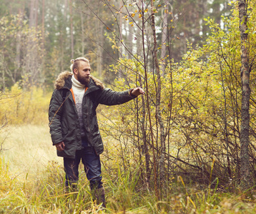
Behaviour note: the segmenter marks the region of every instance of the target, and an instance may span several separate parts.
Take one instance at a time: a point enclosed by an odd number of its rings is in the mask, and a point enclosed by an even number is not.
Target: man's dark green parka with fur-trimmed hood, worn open
[[[64,71],[59,74],[55,82],[49,105],[49,127],[53,145],[64,142],[65,149],[57,151],[57,155],[65,158],[74,158],[77,150],[82,149],[77,108],[72,92],[72,73]],[[104,147],[99,133],[96,108],[99,104],[113,106],[136,98],[130,94],[132,89],[122,92],[104,88],[101,81],[91,76],[87,91],[82,101],[82,116],[84,131],[90,146],[93,146],[99,155]]]

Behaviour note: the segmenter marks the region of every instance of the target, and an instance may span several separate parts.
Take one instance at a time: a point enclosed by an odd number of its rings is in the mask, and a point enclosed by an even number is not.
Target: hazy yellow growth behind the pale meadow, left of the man
[[[23,91],[16,83],[10,90],[6,89],[0,98],[0,122],[10,124],[46,124],[51,93],[43,88],[31,87]]]

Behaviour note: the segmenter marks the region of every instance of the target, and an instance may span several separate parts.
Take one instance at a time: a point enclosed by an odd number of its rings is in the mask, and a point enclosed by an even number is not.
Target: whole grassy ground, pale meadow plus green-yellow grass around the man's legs
[[[0,213],[256,213],[253,192],[227,193],[180,178],[157,200],[151,190],[138,188],[136,172],[111,174],[110,168],[103,168],[107,209],[102,210],[84,172],[77,192],[65,190],[62,159],[51,146],[48,126],[8,126],[0,140]]]

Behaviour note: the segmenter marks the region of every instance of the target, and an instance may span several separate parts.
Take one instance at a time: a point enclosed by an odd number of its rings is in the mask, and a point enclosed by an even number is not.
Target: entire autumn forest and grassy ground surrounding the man
[[[0,0],[0,213],[255,213],[255,0]],[[114,91],[99,106],[107,208],[86,173],[64,192],[49,134],[71,59]]]

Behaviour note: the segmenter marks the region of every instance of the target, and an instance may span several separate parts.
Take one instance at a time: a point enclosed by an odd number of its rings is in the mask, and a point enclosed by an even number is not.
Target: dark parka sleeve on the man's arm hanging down
[[[53,145],[62,142],[61,115],[63,110],[61,91],[54,90],[49,104],[49,128]]]

